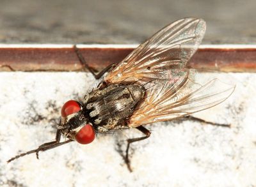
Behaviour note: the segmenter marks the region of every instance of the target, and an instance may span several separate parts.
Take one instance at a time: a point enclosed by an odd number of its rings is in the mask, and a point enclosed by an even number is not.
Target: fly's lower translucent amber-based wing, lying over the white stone
[[[191,80],[188,75],[184,74],[186,77],[175,83],[170,83],[170,80],[151,82],[148,87],[151,86],[152,89],[149,89],[145,100],[141,101],[134,110],[129,126],[170,121],[214,107],[225,101],[235,88],[218,79],[213,79],[201,86]]]

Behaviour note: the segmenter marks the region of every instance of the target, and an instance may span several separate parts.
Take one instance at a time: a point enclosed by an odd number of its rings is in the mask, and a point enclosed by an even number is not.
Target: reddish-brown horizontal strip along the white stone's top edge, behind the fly
[[[82,48],[89,66],[100,71],[122,61],[132,48]],[[256,72],[256,49],[198,49],[189,68]],[[0,71],[81,71],[73,48],[0,48]]]

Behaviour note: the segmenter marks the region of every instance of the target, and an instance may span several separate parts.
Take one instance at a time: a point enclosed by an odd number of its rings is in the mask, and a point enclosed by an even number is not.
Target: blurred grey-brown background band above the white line
[[[255,0],[0,2],[0,43],[141,43],[184,17],[207,22],[203,41],[256,43]]]

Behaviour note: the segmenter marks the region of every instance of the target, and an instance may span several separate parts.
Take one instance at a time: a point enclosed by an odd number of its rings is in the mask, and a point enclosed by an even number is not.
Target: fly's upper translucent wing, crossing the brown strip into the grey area
[[[193,56],[204,37],[205,28],[202,19],[185,18],[173,22],[133,50],[106,75],[104,81],[113,84],[170,79],[170,70],[179,74]]]

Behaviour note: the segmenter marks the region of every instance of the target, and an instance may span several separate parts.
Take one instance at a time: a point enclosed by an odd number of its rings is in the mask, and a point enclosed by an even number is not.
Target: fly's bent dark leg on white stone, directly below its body
[[[129,169],[130,172],[132,172],[132,168],[131,168],[131,161],[129,160],[129,148],[130,148],[130,144],[134,143],[134,142],[138,142],[141,140],[145,140],[148,137],[150,137],[150,131],[147,130],[147,128],[143,127],[143,126],[138,126],[136,127],[136,129],[140,130],[143,134],[145,134],[144,137],[138,137],[138,138],[129,138],[127,139],[127,147],[126,147],[126,151],[125,151],[125,157],[124,157],[124,161],[127,165],[127,168]]]

